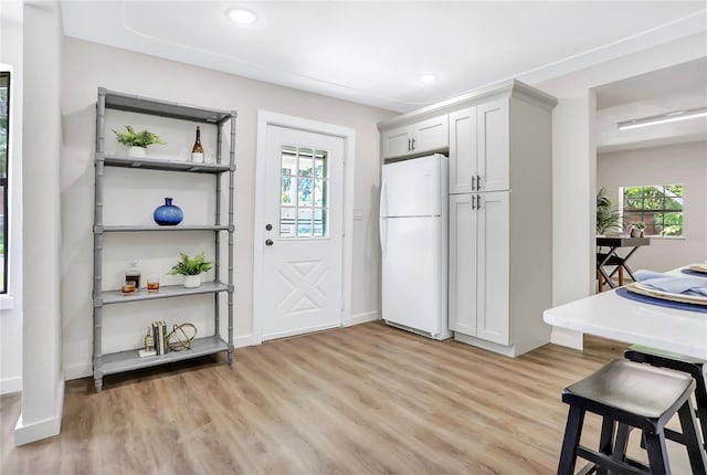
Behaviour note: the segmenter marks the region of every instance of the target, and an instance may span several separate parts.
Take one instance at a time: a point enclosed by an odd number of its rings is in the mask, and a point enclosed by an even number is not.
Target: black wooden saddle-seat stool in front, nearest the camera
[[[707,475],[707,460],[699,445],[690,395],[695,380],[685,373],[627,360],[613,360],[562,391],[570,405],[558,475],[572,475],[577,458],[590,462],[582,474],[606,469],[620,474],[667,475],[665,424],[677,413],[694,475]],[[587,412],[602,416],[599,451],[580,445]],[[612,457],[616,424],[642,431],[648,466],[623,455]]]

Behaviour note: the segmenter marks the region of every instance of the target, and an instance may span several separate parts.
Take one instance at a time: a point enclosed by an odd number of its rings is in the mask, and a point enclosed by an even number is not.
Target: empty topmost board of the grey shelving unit
[[[149,114],[181,120],[201,122],[205,124],[221,124],[235,112],[197,107],[189,104],[158,101],[134,94],[106,91],[106,108],[126,110],[138,114]]]

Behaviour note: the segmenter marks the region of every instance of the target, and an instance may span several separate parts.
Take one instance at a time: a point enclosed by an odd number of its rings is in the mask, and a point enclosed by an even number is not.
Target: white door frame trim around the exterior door
[[[342,236],[341,236],[341,326],[351,325],[351,278],[354,252],[354,170],[356,163],[355,144],[356,130],[335,124],[309,120],[302,117],[288,116],[270,110],[257,112],[257,148],[255,152],[255,207],[253,213],[253,334],[252,344],[263,342],[262,319],[262,286],[263,282],[263,251],[264,231],[258,218],[263,215],[265,199],[258,192],[265,186],[267,160],[267,127],[278,126],[302,131],[330,135],[344,139],[344,203],[342,203]],[[264,222],[264,221],[263,221]]]

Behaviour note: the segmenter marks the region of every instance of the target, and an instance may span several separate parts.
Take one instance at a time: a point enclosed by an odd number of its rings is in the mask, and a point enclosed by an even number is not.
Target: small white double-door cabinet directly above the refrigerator
[[[381,133],[382,157],[419,156],[449,146],[447,115],[433,117]]]

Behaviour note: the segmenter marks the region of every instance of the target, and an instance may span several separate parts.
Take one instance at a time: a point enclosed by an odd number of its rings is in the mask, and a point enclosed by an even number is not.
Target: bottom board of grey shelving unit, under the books
[[[218,336],[197,338],[191,342],[191,348],[181,351],[170,351],[165,355],[140,358],[138,350],[120,351],[101,356],[101,369],[104,374],[114,374],[123,371],[131,371],[140,368],[167,365],[221,351],[228,351],[229,345]]]

